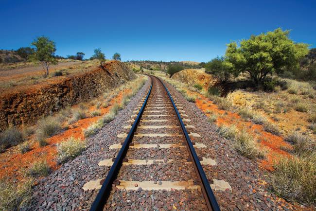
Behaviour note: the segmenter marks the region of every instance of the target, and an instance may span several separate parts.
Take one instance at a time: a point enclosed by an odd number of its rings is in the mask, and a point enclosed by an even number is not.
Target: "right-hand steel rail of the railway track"
[[[160,78],[154,76],[155,78],[157,78],[160,83],[163,85],[163,87],[166,89],[167,93],[168,93],[168,96],[169,96],[169,99],[174,107],[174,110],[176,112],[176,116],[177,116],[177,119],[181,125],[181,129],[182,129],[182,133],[183,133],[183,136],[186,140],[186,144],[187,144],[187,147],[188,147],[188,151],[190,153],[190,157],[193,159],[193,165],[195,167],[195,171],[197,173],[197,176],[198,176],[198,179],[199,181],[201,182],[201,184],[199,184],[201,186],[201,190],[202,190],[202,193],[204,195],[204,198],[205,198],[205,201],[206,201],[206,204],[207,204],[207,207],[209,210],[213,210],[213,211],[220,211],[220,208],[218,206],[218,203],[216,201],[216,198],[215,198],[215,195],[211,189],[211,186],[210,186],[210,183],[205,175],[205,172],[202,168],[202,165],[200,163],[200,160],[198,158],[198,156],[196,155],[196,152],[194,150],[194,147],[193,147],[193,144],[192,144],[192,141],[190,139],[190,136],[185,128],[185,125],[184,123],[182,122],[182,119],[181,119],[181,116],[179,114],[179,111],[177,110],[176,108],[176,104],[174,102],[174,100],[172,99],[172,96],[168,90],[168,88],[165,86],[165,84],[160,80]]]

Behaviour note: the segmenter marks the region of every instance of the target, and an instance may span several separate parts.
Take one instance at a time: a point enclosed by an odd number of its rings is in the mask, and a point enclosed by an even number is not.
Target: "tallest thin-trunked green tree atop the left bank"
[[[35,63],[41,63],[45,72],[45,77],[49,74],[49,66],[57,64],[54,57],[56,45],[53,40],[47,36],[40,36],[32,42],[35,46],[35,52],[30,55],[30,60]]]

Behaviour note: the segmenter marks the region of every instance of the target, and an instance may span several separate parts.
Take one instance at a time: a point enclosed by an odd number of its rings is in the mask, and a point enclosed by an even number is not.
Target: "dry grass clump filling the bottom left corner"
[[[13,183],[0,180],[0,210],[18,211],[26,210],[32,199],[33,179]]]

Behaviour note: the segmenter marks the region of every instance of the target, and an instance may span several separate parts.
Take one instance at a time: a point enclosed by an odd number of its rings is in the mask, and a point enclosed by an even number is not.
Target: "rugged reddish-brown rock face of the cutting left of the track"
[[[119,61],[60,81],[0,94],[0,131],[9,126],[35,123],[61,108],[87,101],[107,89],[134,79],[133,71]]]

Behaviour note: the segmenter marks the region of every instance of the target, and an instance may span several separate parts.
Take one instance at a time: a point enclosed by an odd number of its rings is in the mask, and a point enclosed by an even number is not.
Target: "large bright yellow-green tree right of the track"
[[[290,31],[280,28],[266,34],[251,35],[228,44],[226,59],[235,74],[247,72],[258,85],[268,74],[280,74],[285,69],[299,66],[299,61],[308,53],[308,45],[295,43],[289,38]]]

